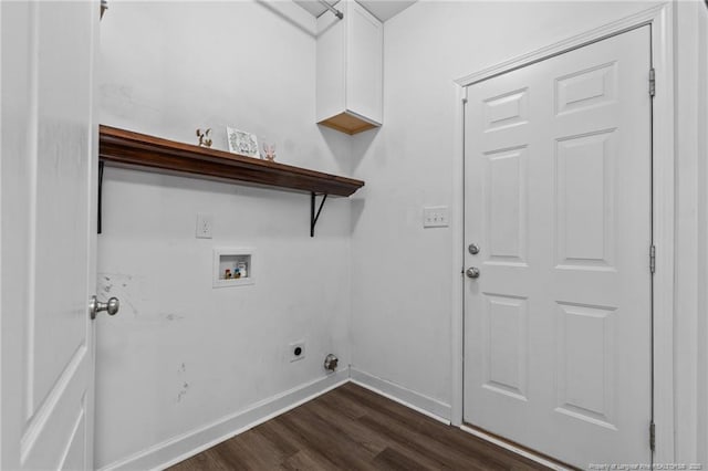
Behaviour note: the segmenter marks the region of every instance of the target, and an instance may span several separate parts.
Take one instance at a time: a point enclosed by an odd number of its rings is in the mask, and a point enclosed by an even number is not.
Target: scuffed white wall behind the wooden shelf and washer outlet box
[[[188,143],[211,126],[222,149],[228,124],[275,139],[279,161],[347,175],[348,138],[314,124],[314,41],[258,2],[113,1],[101,123]],[[123,306],[96,323],[97,468],[323,378],[330,352],[348,364],[347,199],[311,239],[304,193],[108,167],[103,191],[98,292]],[[197,212],[214,239],[195,238]],[[257,250],[253,286],[211,287],[221,245]]]

